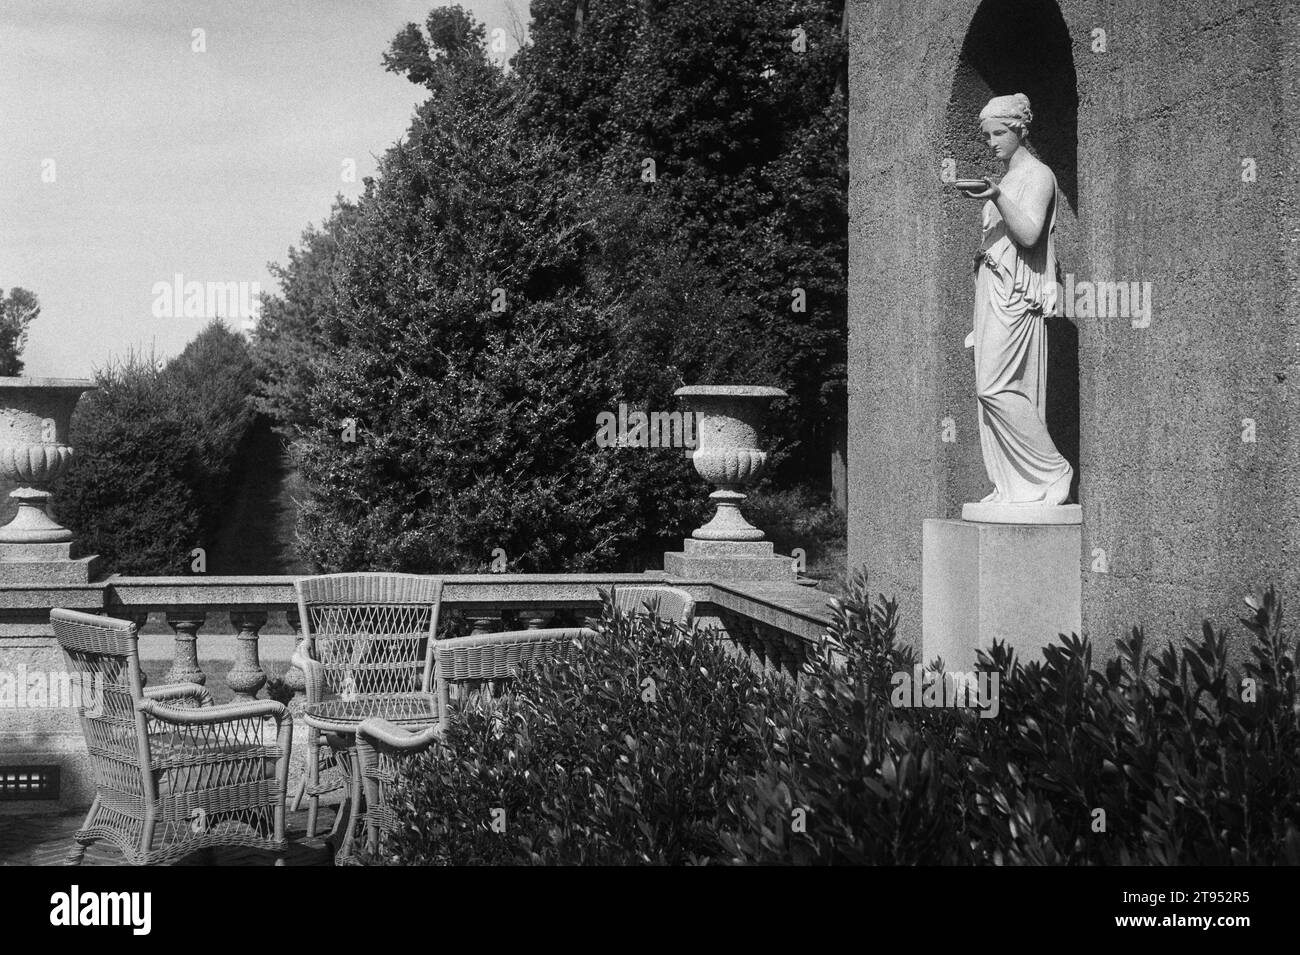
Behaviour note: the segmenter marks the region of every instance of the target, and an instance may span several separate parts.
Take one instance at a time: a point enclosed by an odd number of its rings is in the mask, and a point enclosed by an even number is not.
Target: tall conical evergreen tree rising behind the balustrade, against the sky
[[[702,495],[680,450],[595,440],[625,360],[584,269],[581,172],[529,127],[456,8],[403,31],[389,64],[432,95],[368,182],[335,272],[298,444],[306,556],[448,572],[500,548],[512,569],[610,567]]]

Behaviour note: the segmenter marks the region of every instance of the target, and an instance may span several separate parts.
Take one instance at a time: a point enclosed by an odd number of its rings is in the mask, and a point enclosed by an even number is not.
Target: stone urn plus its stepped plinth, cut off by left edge
[[[82,557],[73,533],[49,513],[49,485],[73,461],[68,427],[82,394],[79,378],[0,378],[0,479],[18,513],[0,528],[0,586],[88,583],[99,557]]]

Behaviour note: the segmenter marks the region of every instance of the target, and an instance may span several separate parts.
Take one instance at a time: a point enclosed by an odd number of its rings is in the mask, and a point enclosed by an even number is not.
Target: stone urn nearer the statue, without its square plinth
[[[745,520],[740,504],[744,487],[767,466],[759,435],[768,404],[785,398],[780,388],[760,385],[688,385],[673,392],[697,414],[696,470],[716,486],[708,499],[718,504],[712,520],[696,528],[697,541],[762,541],[763,531]]]

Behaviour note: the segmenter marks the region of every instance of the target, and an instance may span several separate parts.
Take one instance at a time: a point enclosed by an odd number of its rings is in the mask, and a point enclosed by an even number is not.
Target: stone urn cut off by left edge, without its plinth
[[[0,378],[0,478],[18,487],[18,513],[0,528],[0,543],[66,543],[73,533],[49,515],[49,485],[68,470],[68,426],[77,401],[95,383],[82,378]]]

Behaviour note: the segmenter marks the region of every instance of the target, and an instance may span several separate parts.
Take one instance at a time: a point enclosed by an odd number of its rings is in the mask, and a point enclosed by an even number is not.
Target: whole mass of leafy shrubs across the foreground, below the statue
[[[1271,591],[1251,605],[1240,670],[1209,625],[1100,669],[1078,638],[998,644],[994,719],[893,704],[915,660],[861,579],[797,691],[607,609],[412,767],[386,861],[1300,864],[1300,646]]]

